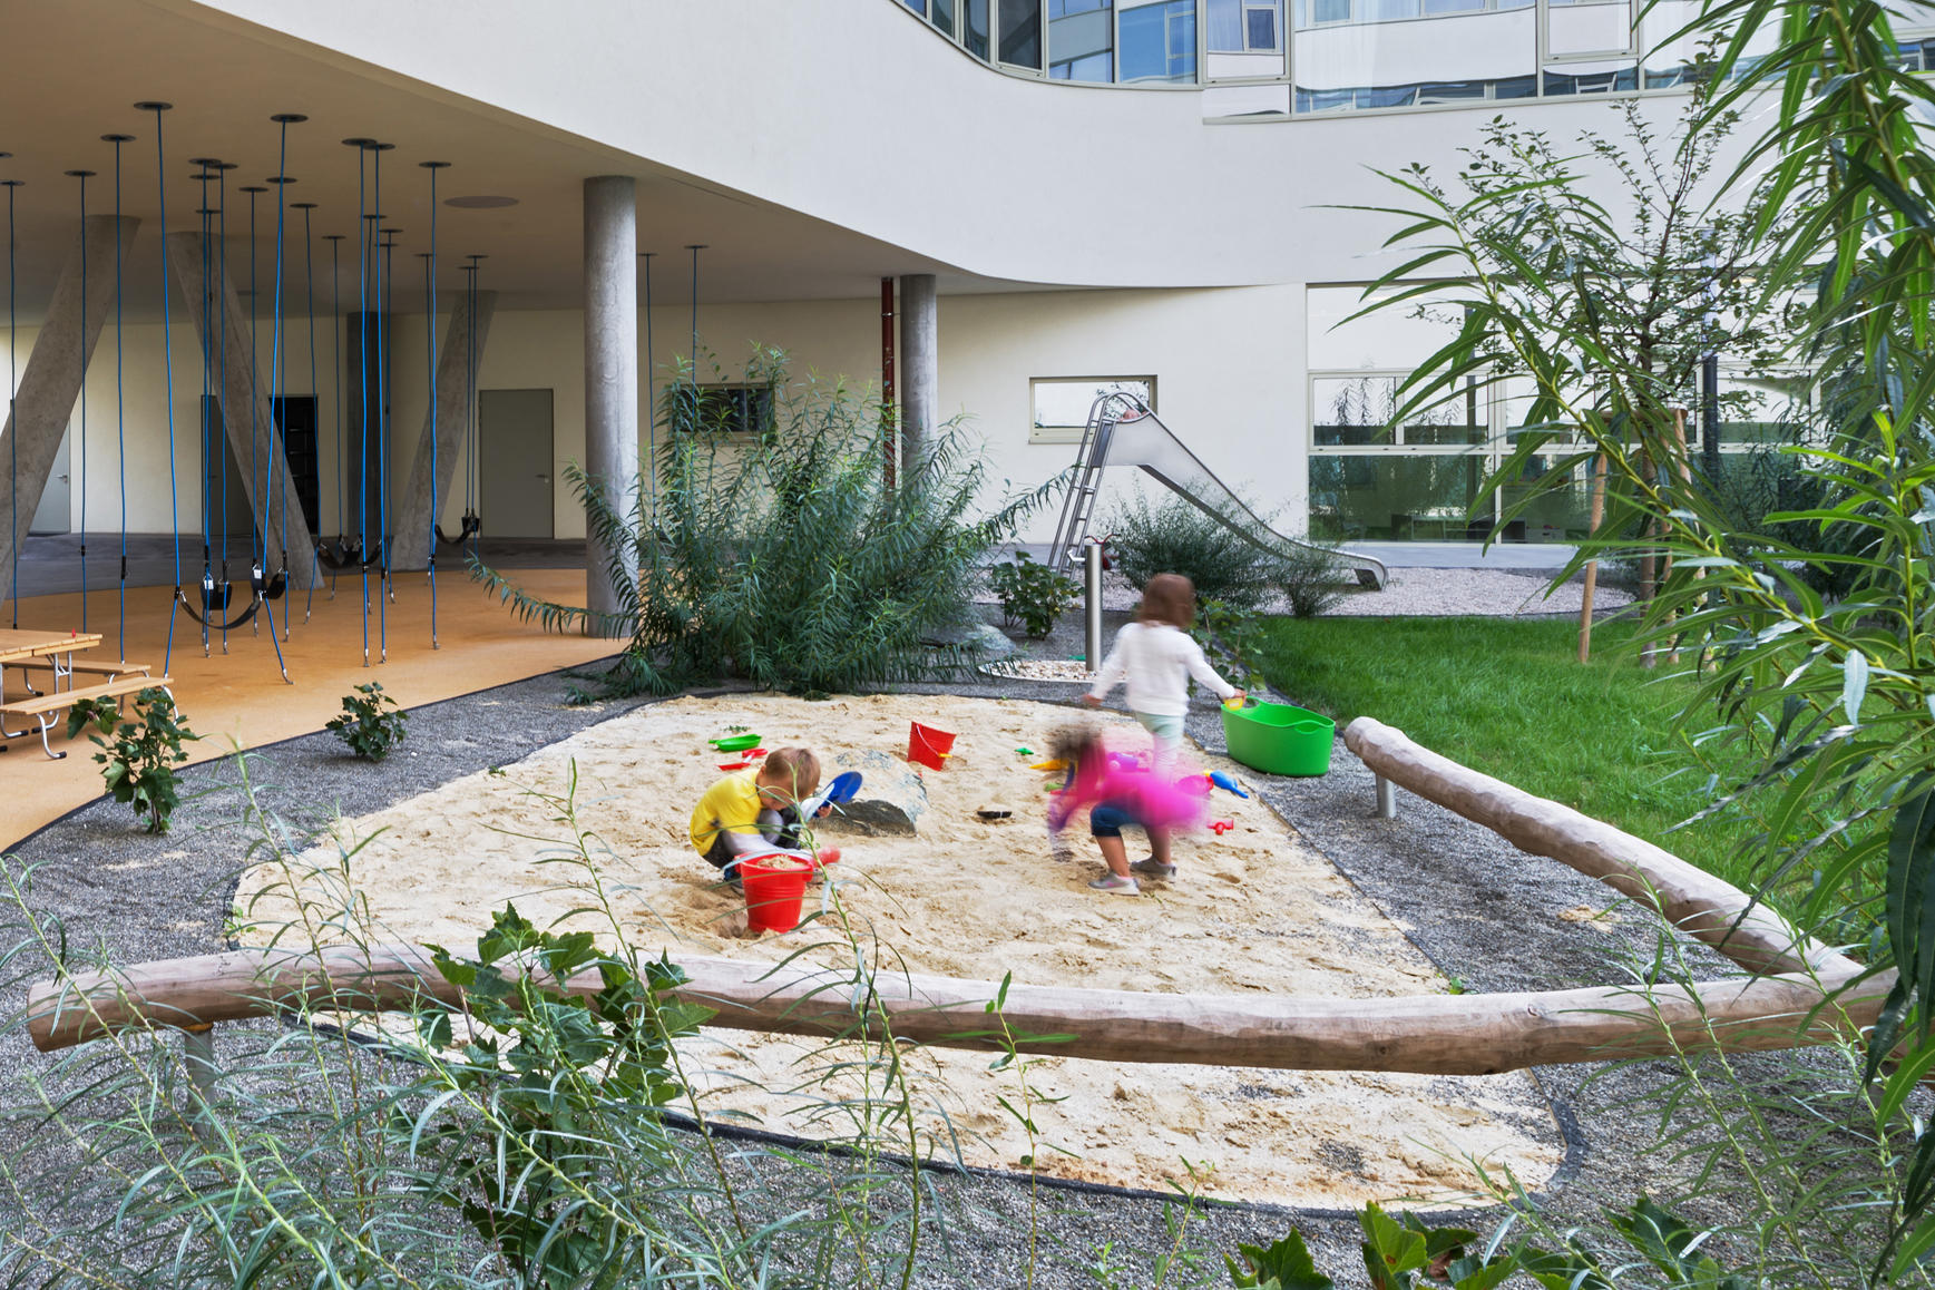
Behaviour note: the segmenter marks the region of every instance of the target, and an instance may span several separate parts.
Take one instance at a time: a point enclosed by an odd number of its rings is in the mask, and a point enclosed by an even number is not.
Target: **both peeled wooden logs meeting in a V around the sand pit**
[[[1380,779],[1484,824],[1521,851],[1558,859],[1658,911],[1757,975],[1651,988],[1401,998],[1140,994],[1064,986],[1008,988],[1002,1021],[1022,1052],[1103,1062],[1182,1062],[1265,1070],[1366,1070],[1492,1075],[1527,1066],[1614,1062],[1676,1052],[1751,1052],[1858,1041],[1875,1023],[1892,973],[1801,938],[1734,886],[1652,843],[1523,793],[1358,718],[1345,745]],[[898,1039],[998,1050],[987,1006],[998,986],[954,977],[875,975],[679,957],[687,1002],[712,1025],[811,1037]],[[596,975],[565,982],[596,992]],[[319,953],[234,950],[79,973],[41,982],[27,1029],[43,1052],[128,1029],[205,1031],[290,1010],[462,1008],[462,992],[418,946]]]

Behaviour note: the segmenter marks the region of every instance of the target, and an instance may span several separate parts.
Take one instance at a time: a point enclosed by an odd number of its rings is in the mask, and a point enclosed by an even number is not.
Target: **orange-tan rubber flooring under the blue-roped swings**
[[[530,569],[515,576],[522,588],[548,600],[584,603],[582,569]],[[89,594],[87,627],[101,632],[103,640],[77,658],[87,661],[128,658],[149,663],[153,675],[161,675],[172,596],[172,588],[161,586],[128,590],[124,656],[116,590]],[[319,588],[313,603],[304,592],[290,592],[288,598],[271,603],[279,629],[284,607],[292,609],[294,621],[288,627],[288,640],[283,642],[288,681],[283,681],[277,667],[265,615],[255,615],[259,630],[252,625],[228,632],[226,654],[221,634],[213,634],[209,654],[203,656],[201,627],[180,607],[174,609],[170,689],[190,729],[203,737],[201,743],[188,745],[190,760],[207,762],[238,747],[257,748],[319,731],[342,710],[344,694],[372,681],[381,683],[383,692],[401,706],[414,708],[608,658],[617,650],[617,642],[611,640],[548,634],[534,623],[522,623],[455,571],[437,574],[439,648],[435,650],[430,642],[426,574],[397,576],[395,603],[383,605],[389,619],[387,661],[379,661],[385,632],[372,590],[368,667],[360,574],[341,574],[335,596]],[[25,598],[19,601],[19,625],[77,630],[81,598],[79,594]],[[8,683],[15,689],[14,677]],[[87,677],[81,683],[85,685]],[[6,756],[0,756],[0,847],[12,847],[103,791],[101,768],[93,760],[95,747],[87,743],[87,735],[70,741],[64,725],[56,729],[52,747],[56,752],[68,752],[62,760],[48,760],[39,735],[12,739],[6,747]]]

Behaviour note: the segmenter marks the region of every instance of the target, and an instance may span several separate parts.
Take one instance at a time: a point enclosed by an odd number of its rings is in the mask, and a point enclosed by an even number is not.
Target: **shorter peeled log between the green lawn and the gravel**
[[[1571,806],[1459,766],[1384,721],[1351,721],[1343,743],[1380,779],[1482,824],[1519,851],[1598,878],[1747,971],[1811,973],[1842,981],[1863,971],[1860,963],[1809,940],[1730,882]]]

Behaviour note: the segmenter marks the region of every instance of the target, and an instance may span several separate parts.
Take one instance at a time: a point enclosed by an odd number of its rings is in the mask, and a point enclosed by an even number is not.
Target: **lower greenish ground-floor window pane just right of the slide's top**
[[[1467,518],[1484,468],[1482,453],[1312,454],[1310,532],[1333,542],[1474,542],[1492,530],[1488,514]]]

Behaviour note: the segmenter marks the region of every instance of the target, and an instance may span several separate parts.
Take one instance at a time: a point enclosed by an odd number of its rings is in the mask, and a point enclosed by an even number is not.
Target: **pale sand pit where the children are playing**
[[[1101,872],[1086,828],[1076,861],[1055,861],[1043,783],[1018,747],[1043,748],[1068,708],[1020,700],[871,696],[805,702],[782,696],[681,698],[639,708],[534,756],[344,820],[350,880],[383,936],[468,948],[491,911],[517,901],[544,924],[580,905],[557,890],[567,874],[544,865],[563,830],[530,789],[565,793],[579,774],[579,824],[610,849],[604,880],[623,888],[621,923],[635,944],[673,953],[780,961],[807,948],[834,963],[822,924],[747,936],[745,911],[687,841],[693,803],[718,776],[706,739],[739,725],[768,748],[815,748],[840,768],[896,766],[908,723],[956,731],[948,770],[925,772],[917,836],[840,834],[832,874],[869,953],[913,973],[1151,992],[1308,994],[1374,998],[1424,994],[1447,982],[1401,928],[1360,897],[1260,801],[1213,795],[1231,832],[1178,837],[1175,882],[1144,882],[1142,897],[1095,894]],[[1120,716],[1109,725],[1134,729]],[[408,752],[408,747],[404,747]],[[884,760],[882,754],[890,756]],[[1211,768],[1242,776],[1219,758]],[[861,799],[869,797],[867,789]],[[975,812],[1014,814],[989,822]],[[383,830],[377,834],[377,830]],[[373,839],[372,839],[373,836]],[[553,841],[544,841],[553,839]],[[1130,857],[1146,855],[1130,836]],[[308,859],[327,865],[335,851]],[[275,874],[244,880],[240,903],[273,921],[286,901],[263,899]],[[807,907],[826,899],[807,892]],[[582,926],[592,926],[584,915]],[[820,946],[813,950],[811,946]],[[840,950],[851,959],[851,950]],[[801,1137],[851,1133],[828,1102],[855,1079],[822,1071],[855,1046],[813,1039],[706,1031],[687,1046],[712,1110]],[[921,1131],[937,1155],[1018,1170],[1027,1137],[998,1099],[1020,1106],[1014,1071],[985,1052],[927,1048],[909,1056]],[[1027,1071],[1043,1174],[1124,1187],[1186,1184],[1196,1166],[1206,1195],[1283,1205],[1356,1205],[1413,1197],[1455,1203],[1476,1186],[1467,1158],[1527,1187],[1563,1155],[1550,1108],[1523,1073],[1432,1077],[1269,1071],[1254,1068],[1111,1064],[1037,1058]],[[795,1093],[784,1093],[793,1089]],[[892,1133],[892,1129],[888,1129]],[[906,1131],[898,1131],[906,1141]]]

